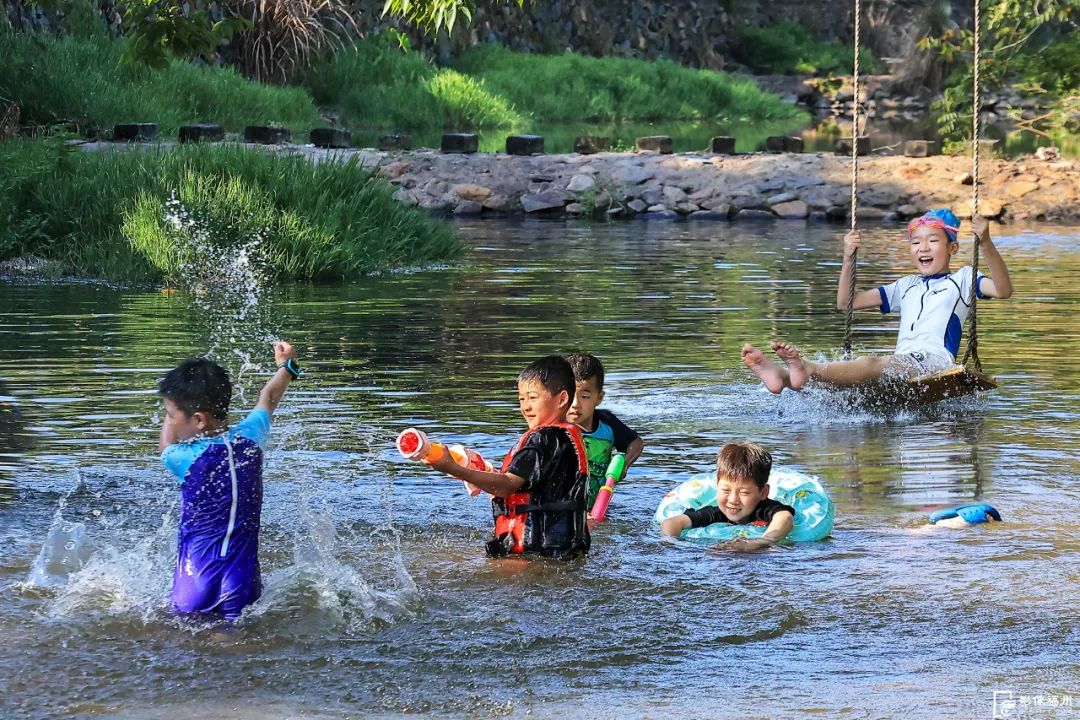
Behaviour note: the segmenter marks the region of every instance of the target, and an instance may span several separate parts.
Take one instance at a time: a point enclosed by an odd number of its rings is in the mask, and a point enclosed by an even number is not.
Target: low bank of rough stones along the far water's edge
[[[841,220],[851,206],[851,160],[824,153],[369,154],[397,186],[397,200],[455,215]],[[863,219],[899,220],[941,206],[971,214],[970,158],[868,157],[859,165]],[[985,159],[980,176],[982,215],[1080,221],[1075,161]]]

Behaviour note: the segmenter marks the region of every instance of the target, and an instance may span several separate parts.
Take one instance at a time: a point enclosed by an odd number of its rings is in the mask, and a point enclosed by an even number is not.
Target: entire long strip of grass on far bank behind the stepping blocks
[[[94,135],[118,122],[157,122],[166,138],[194,122],[233,132],[248,124],[307,131],[325,124],[316,105],[346,126],[388,131],[806,119],[753,82],[665,60],[484,45],[441,68],[384,35],[318,62],[300,86],[278,87],[225,67],[133,67],[121,62],[122,50],[104,35],[0,32],[0,97],[14,100],[28,124],[71,122]]]

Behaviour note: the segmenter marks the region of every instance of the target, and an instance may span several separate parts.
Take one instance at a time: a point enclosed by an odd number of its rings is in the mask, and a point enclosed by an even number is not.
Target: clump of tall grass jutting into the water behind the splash
[[[9,140],[0,142],[0,260],[32,255],[78,275],[152,280],[184,275],[210,245],[248,248],[270,276],[336,279],[456,257],[450,229],[392,192],[354,162]]]

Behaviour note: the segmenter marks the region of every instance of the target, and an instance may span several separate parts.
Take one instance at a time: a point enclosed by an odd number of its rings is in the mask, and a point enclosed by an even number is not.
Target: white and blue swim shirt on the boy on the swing
[[[971,273],[971,266],[966,266],[954,273],[905,275],[878,288],[881,314],[900,311],[897,355],[924,353],[947,359],[949,365],[956,362],[968,317]],[[980,285],[984,280],[986,275],[978,276]],[[982,300],[988,296],[980,287],[976,297]]]

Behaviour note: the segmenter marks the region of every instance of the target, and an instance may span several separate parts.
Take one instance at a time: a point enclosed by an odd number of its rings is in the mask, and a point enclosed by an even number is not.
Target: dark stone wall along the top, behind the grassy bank
[[[23,0],[0,0],[4,17],[19,29],[57,27],[56,13]],[[114,0],[91,0],[113,31]],[[864,0],[864,44],[878,56],[908,57],[924,32],[931,0]],[[834,0],[478,0],[473,23],[453,37],[426,37],[382,18],[383,0],[355,0],[365,32],[397,27],[413,46],[446,62],[478,43],[500,42],[530,53],[571,50],[584,55],[656,59],[690,67],[730,67],[729,49],[741,26],[794,21],[820,40],[852,41],[852,3]]]

